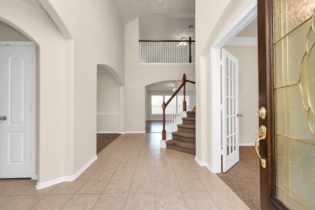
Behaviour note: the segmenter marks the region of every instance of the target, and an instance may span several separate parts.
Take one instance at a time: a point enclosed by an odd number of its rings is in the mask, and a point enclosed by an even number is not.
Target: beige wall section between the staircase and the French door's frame
[[[249,7],[253,0],[195,0],[196,24],[196,157],[212,167],[210,72],[213,43]],[[218,90],[220,91],[220,90]],[[219,148],[220,150],[220,148]]]

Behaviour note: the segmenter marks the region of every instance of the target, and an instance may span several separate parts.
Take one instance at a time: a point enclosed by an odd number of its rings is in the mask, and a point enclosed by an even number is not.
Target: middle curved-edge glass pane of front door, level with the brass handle
[[[314,143],[314,135],[309,128],[308,113],[303,107],[300,88],[298,85],[294,85],[288,89],[289,136],[294,139]]]

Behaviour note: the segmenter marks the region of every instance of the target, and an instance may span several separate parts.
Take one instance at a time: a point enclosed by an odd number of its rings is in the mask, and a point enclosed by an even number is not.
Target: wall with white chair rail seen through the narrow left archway
[[[119,85],[106,69],[97,69],[96,132],[119,133]]]

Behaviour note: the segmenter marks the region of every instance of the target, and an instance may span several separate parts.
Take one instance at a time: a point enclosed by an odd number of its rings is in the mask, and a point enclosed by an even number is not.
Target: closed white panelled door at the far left
[[[32,177],[32,55],[0,46],[0,178]]]

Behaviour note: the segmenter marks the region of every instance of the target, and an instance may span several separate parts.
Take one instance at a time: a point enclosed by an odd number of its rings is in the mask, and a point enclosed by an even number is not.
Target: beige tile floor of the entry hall
[[[249,210],[194,156],[161,149],[160,133],[121,135],[75,181],[36,190],[0,180],[1,210]]]

